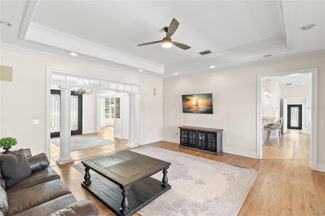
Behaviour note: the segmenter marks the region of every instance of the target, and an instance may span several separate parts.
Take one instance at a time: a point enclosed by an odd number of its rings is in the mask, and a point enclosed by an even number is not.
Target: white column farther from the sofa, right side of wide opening
[[[128,148],[137,147],[136,137],[136,95],[129,94],[129,111],[128,111],[128,142],[125,145]]]

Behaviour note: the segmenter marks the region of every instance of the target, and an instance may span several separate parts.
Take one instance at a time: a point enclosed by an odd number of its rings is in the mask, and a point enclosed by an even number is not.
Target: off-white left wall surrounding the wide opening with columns
[[[12,150],[30,148],[31,153],[45,152],[46,127],[46,67],[74,73],[103,77],[105,79],[138,83],[141,85],[141,138],[144,141],[159,140],[162,137],[162,87],[163,81],[117,73],[112,70],[76,64],[68,61],[1,49],[1,64],[13,67],[13,82],[1,81],[1,137],[13,136],[18,145]],[[159,91],[152,95],[152,88]],[[95,97],[95,95],[92,95]],[[91,99],[89,97],[86,101]],[[93,101],[89,101],[92,103]],[[88,104],[89,106],[92,104]],[[96,102],[94,102],[96,104]],[[86,105],[87,106],[87,105]],[[95,111],[86,112],[92,116]],[[32,125],[33,119],[40,124]],[[87,122],[88,120],[86,120]],[[89,120],[89,125],[94,124]],[[87,123],[85,123],[86,125]],[[91,128],[84,128],[84,130]]]

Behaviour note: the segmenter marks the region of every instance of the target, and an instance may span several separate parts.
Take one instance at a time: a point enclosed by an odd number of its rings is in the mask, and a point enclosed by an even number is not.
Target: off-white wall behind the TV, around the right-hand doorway
[[[178,126],[182,125],[185,116],[181,107],[182,94],[212,93],[213,114],[187,114],[184,125],[224,129],[224,152],[256,157],[256,76],[318,67],[318,107],[310,108],[317,109],[317,164],[325,170],[325,127],[320,125],[320,121],[325,119],[324,62],[324,56],[315,56],[166,80],[163,96],[164,139],[179,140],[175,132],[179,131]],[[229,142],[225,142],[225,138]]]

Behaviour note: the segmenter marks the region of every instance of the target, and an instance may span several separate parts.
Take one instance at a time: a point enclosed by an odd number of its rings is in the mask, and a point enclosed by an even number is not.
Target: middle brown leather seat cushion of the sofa
[[[60,179],[53,179],[21,190],[7,192],[9,204],[7,216],[23,212],[66,194],[71,194],[71,192]],[[55,205],[55,202],[52,204]]]

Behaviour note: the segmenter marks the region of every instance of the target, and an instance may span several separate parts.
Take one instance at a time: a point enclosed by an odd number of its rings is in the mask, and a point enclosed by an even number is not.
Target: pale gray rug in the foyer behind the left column
[[[51,142],[55,146],[60,147],[60,138],[51,139]],[[117,142],[103,139],[98,136],[71,136],[71,152],[110,145],[113,143]]]

